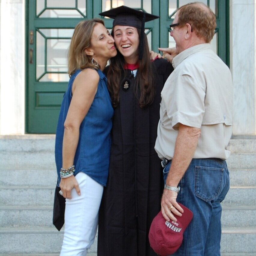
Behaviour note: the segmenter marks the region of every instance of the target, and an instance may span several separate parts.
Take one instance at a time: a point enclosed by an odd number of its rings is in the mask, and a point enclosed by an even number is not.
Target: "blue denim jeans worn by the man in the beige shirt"
[[[163,170],[164,182],[171,163]],[[229,172],[225,160],[192,159],[183,178],[177,202],[193,212],[175,256],[220,256],[221,201],[229,190]]]

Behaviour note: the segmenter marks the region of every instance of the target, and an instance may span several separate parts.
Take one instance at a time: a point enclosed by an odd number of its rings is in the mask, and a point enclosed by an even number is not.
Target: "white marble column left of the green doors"
[[[25,131],[24,2],[0,1],[0,134]]]

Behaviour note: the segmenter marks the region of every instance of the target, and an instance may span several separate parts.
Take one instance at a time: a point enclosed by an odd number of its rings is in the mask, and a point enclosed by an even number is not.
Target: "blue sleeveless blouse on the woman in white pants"
[[[62,167],[62,141],[64,134],[64,122],[72,99],[72,84],[81,70],[76,71],[69,80],[68,89],[63,96],[59,120],[56,129],[55,162],[58,174],[58,186],[60,182],[60,168]],[[107,88],[107,78],[100,71],[99,84],[93,103],[80,125],[78,146],[75,153],[75,173],[84,172],[106,186],[111,147],[112,117],[114,110]]]

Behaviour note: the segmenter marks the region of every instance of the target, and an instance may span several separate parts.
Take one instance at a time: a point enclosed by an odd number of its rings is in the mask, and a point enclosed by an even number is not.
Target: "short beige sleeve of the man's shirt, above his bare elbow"
[[[205,83],[190,75],[177,75],[172,84],[162,95],[172,128],[178,130],[180,124],[200,128],[205,113]]]

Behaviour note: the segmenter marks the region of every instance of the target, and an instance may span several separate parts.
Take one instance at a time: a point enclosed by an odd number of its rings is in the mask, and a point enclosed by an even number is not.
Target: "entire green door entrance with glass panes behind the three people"
[[[159,15],[147,22],[149,46],[175,46],[169,35],[176,9],[189,0],[26,0],[26,132],[55,133],[62,97],[66,91],[67,54],[74,27],[84,19],[100,17],[110,8],[126,5]],[[228,0],[204,0],[217,16],[212,47],[228,63],[226,5]],[[104,19],[108,29],[112,19]]]

